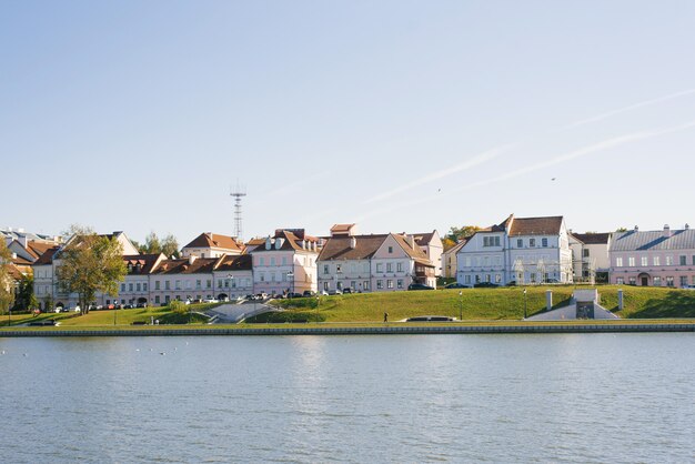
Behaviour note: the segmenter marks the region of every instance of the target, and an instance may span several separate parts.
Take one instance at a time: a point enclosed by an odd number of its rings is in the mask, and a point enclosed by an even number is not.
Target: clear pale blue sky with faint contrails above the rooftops
[[[3,1],[0,225],[695,223],[695,2]],[[555,180],[552,180],[555,179]]]

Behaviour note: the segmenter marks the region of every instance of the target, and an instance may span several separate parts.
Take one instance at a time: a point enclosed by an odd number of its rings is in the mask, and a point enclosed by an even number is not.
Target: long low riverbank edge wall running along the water
[[[621,332],[695,332],[695,323],[649,324],[523,324],[523,325],[384,325],[342,327],[219,327],[141,330],[0,330],[0,337],[36,336],[266,336],[266,335],[426,335],[426,334],[554,334]]]

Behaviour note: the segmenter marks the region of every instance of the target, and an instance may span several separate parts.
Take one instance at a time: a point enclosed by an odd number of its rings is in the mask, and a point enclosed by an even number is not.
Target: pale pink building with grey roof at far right
[[[611,283],[639,286],[695,285],[695,231],[616,232],[608,249]]]

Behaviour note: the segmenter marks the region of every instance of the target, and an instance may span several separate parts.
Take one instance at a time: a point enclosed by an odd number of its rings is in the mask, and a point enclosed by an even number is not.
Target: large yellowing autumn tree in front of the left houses
[[[71,230],[72,238],[58,255],[58,284],[78,294],[81,312],[87,314],[97,292],[118,294],[118,284],[125,279],[128,269],[118,241],[87,228],[73,225]]]

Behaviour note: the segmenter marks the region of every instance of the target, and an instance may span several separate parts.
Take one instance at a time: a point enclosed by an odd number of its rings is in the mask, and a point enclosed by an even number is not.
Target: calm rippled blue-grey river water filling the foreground
[[[695,462],[694,334],[0,339],[0,461]]]

